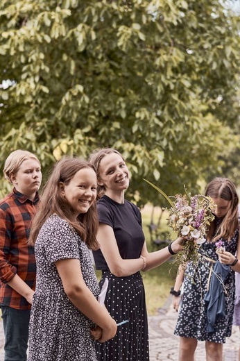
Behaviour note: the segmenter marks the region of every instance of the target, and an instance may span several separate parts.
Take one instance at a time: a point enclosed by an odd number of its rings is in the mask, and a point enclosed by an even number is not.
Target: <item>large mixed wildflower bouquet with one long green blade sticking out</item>
[[[197,265],[199,261],[198,249],[205,242],[207,226],[214,220],[212,209],[216,207],[215,203],[208,196],[200,194],[191,196],[186,190],[186,194],[176,194],[169,197],[153,183],[146,182],[151,184],[169,201],[171,205],[169,209],[169,226],[178,237],[185,237],[184,249],[178,252],[174,262],[178,266],[184,267],[185,263],[191,260]]]

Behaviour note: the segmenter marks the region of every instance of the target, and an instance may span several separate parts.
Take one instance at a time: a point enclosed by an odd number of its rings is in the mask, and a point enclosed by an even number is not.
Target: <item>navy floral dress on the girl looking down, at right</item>
[[[229,242],[222,240],[222,246],[233,255],[237,249],[238,237],[239,229],[235,231]],[[199,262],[197,267],[194,267],[192,262],[189,262],[185,271],[184,292],[174,334],[181,337],[194,337],[199,341],[223,344],[225,343],[225,337],[230,337],[232,333],[234,271],[229,266],[230,271],[224,281],[227,292],[225,294],[225,317],[216,319],[214,332],[207,333],[207,303],[204,301],[204,297],[207,293],[209,269],[212,265],[214,266],[214,262],[211,262],[211,260],[218,260],[215,242],[203,243],[199,252],[205,255],[203,262]]]

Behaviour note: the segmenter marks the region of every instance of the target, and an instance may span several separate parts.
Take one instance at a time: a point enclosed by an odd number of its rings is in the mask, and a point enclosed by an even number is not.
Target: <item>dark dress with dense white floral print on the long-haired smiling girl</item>
[[[35,244],[37,283],[29,328],[28,361],[96,361],[92,321],[69,301],[55,262],[74,258],[94,296],[100,290],[90,251],[70,225],[51,215]]]

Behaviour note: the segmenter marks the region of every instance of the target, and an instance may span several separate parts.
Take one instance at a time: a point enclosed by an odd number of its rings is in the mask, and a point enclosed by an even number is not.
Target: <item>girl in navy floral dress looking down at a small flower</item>
[[[198,341],[205,341],[207,360],[223,360],[225,337],[232,332],[234,310],[234,271],[240,271],[239,221],[236,187],[228,178],[214,178],[207,185],[205,195],[210,196],[216,209],[215,219],[209,225],[207,241],[199,249],[200,262],[194,267],[188,262],[185,273],[178,274],[174,291],[178,292],[184,278],[175,335],[180,336],[180,361],[194,361]],[[216,253],[216,242],[221,242],[221,251]],[[235,253],[237,251],[237,258]],[[207,293],[213,277],[212,269],[219,261],[226,270],[224,280],[225,316],[216,316],[212,330],[209,330],[209,313]],[[217,289],[216,289],[217,292]],[[213,296],[213,295],[212,295]],[[173,307],[178,311],[179,296],[173,296]]]

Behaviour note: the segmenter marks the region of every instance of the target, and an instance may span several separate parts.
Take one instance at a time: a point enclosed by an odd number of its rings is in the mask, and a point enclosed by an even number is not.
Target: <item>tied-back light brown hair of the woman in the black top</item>
[[[105,157],[108,156],[108,154],[112,154],[112,153],[116,153],[118,154],[123,161],[125,161],[123,159],[123,156],[121,155],[121,153],[119,151],[117,151],[117,149],[113,149],[113,148],[101,148],[101,149],[96,149],[95,151],[92,152],[92,154],[89,156],[89,162],[94,165],[95,169],[96,169],[96,178],[97,181],[100,181],[100,176],[99,176],[99,167],[100,167],[100,162],[101,160]],[[105,193],[105,186],[104,185],[97,185],[97,198],[100,199],[101,196],[103,196],[103,194]]]

